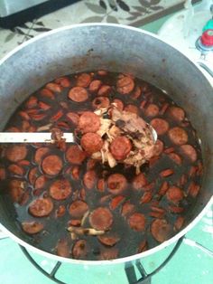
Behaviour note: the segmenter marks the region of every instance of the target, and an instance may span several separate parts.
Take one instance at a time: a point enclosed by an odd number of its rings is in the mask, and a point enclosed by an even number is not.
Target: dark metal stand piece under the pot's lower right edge
[[[156,274],[157,272],[159,272],[171,260],[171,258],[174,256],[174,254],[180,248],[183,239],[184,239],[184,236],[181,237],[181,239],[179,239],[179,241],[177,241],[173,250],[168,255],[168,257],[162,262],[162,264],[159,265],[158,268],[156,268],[155,270],[153,270],[153,272],[151,272],[149,274],[146,273],[146,271],[144,270],[144,266],[141,263],[141,261],[137,260],[135,265],[136,265],[137,270],[140,272],[140,274],[142,276],[141,279],[138,279],[138,280],[136,279],[134,264],[131,263],[131,262],[127,263],[125,265],[125,275],[128,279],[129,284],[151,284],[152,283],[152,276],[154,274]]]

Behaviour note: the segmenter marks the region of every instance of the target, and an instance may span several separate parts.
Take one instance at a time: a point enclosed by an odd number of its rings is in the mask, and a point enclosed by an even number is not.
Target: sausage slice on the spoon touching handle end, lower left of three
[[[103,147],[103,140],[97,133],[86,133],[80,139],[81,147],[88,153],[93,154]]]

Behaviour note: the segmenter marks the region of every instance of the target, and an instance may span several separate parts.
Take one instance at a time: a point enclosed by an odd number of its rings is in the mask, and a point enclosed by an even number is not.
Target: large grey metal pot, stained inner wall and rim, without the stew
[[[5,127],[14,109],[45,82],[76,71],[106,69],[131,72],[166,90],[187,110],[201,139],[204,178],[187,226],[149,251],[117,260],[70,260],[28,244],[15,223],[15,213],[4,195],[0,199],[2,230],[14,241],[47,257],[72,263],[100,264],[137,260],[177,241],[207,211],[213,194],[213,92],[203,73],[181,52],[157,36],[118,24],[79,24],[42,34],[9,53],[0,62],[0,121]]]

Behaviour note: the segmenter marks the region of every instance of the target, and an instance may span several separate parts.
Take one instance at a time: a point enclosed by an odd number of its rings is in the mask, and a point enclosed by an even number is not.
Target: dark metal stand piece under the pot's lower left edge
[[[32,262],[32,264],[37,268],[37,270],[42,272],[42,274],[44,274],[46,277],[48,277],[52,281],[55,281],[58,284],[67,284],[67,283],[62,282],[59,279],[55,278],[56,272],[60,269],[60,265],[61,265],[60,261],[58,261],[56,263],[56,265],[54,266],[54,268],[51,270],[51,272],[48,273],[46,270],[43,270],[42,267],[35,260],[32,259],[32,256],[30,255],[30,253],[25,248],[23,248],[23,246],[21,246],[21,245],[19,245],[19,246],[20,246],[21,250],[23,251],[24,255],[26,256],[26,258],[28,260],[30,260]]]

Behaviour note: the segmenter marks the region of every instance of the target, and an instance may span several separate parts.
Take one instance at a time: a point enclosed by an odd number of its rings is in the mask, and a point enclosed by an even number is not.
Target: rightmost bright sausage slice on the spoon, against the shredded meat
[[[116,160],[124,160],[132,149],[132,143],[127,137],[120,136],[113,140],[109,148]]]

